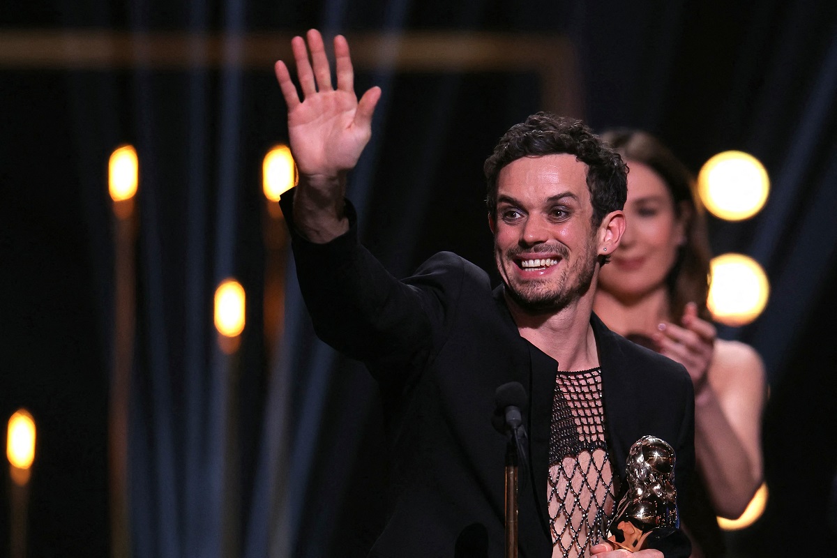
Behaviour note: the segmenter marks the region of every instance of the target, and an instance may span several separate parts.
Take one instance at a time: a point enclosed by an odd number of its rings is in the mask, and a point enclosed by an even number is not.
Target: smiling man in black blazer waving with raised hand
[[[506,439],[490,417],[510,381],[529,398],[520,555],[624,555],[600,541],[631,445],[647,434],[670,443],[678,484],[694,465],[686,371],[592,313],[599,268],[624,232],[624,163],[580,122],[531,116],[485,163],[503,284],[492,291],[452,253],[398,281],[357,242],[345,199],[381,91],[357,100],[345,38],[336,90],[320,33],[291,45],[303,100],[281,61],[276,76],[300,173],[282,199],[300,288],[321,339],[377,379],[387,420],[388,518],[371,555],[502,554]],[[689,554],[677,536],[661,545]]]

